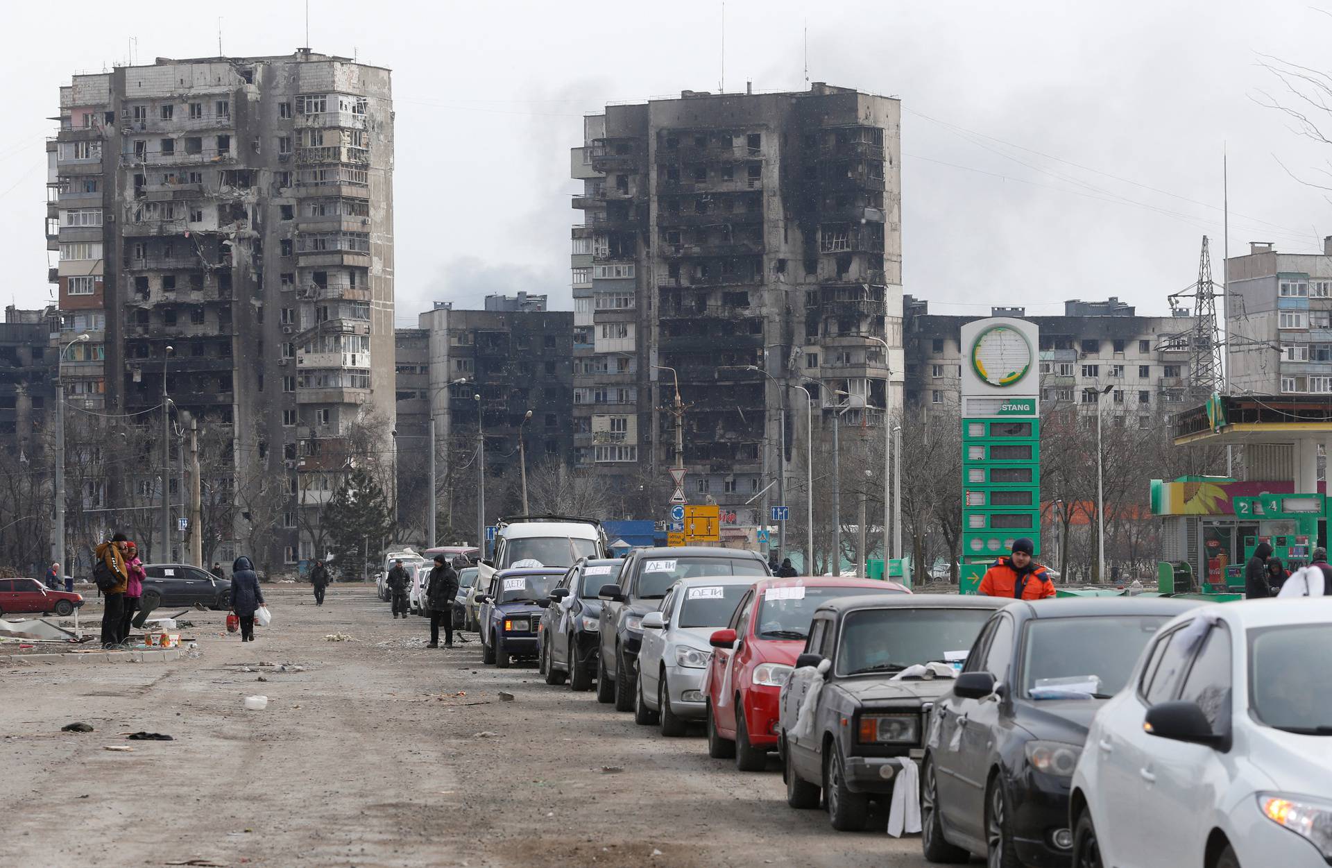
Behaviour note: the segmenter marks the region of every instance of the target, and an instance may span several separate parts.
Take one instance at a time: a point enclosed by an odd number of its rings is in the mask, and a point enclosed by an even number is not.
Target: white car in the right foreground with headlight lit
[[[1098,712],[1074,865],[1332,864],[1332,598],[1191,610]]]

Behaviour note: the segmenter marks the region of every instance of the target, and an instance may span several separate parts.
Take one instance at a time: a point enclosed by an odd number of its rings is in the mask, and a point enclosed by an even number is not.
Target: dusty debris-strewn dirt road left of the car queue
[[[264,592],[254,643],[192,612],[197,659],[0,670],[0,864],[926,864],[919,836],[793,811],[775,763],[737,772],[701,731],[663,739],[535,666],[484,666],[473,634],[418,647],[429,623],[394,620],[373,586],[322,607]],[[60,731],[77,720],[95,732]],[[174,740],[125,739],[140,730]]]

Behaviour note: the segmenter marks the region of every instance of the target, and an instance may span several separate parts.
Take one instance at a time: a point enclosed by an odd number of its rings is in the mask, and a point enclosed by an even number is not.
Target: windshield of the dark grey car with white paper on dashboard
[[[1027,699],[1108,699],[1123,690],[1164,615],[1039,618],[1027,624],[1022,695]]]

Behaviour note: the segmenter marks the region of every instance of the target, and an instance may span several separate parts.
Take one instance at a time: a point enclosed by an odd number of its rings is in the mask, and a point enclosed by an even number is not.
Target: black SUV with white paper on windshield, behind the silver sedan
[[[677,579],[713,575],[773,575],[757,551],[717,546],[638,548],[625,559],[618,584],[601,588],[597,700],[615,702],[615,711],[634,710],[638,646],[643,615],[655,611]],[[621,678],[623,674],[623,678]]]

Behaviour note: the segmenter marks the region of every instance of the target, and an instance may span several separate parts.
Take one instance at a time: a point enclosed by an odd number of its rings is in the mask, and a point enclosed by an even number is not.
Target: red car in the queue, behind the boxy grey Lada
[[[860,594],[910,594],[896,582],[832,576],[762,579],[741,599],[730,627],[711,636],[703,694],[707,755],[735,758],[741,771],[762,771],[777,748],[778,699],[805,651],[814,610]],[[737,708],[742,710],[737,714]]]

